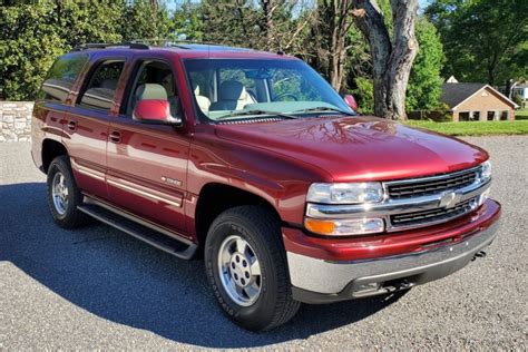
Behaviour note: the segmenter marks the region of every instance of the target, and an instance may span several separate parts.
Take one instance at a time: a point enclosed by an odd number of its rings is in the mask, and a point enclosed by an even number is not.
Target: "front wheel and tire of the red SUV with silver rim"
[[[242,241],[238,242],[238,238],[246,243],[239,262],[236,256],[242,253],[238,250]],[[221,253],[232,254],[222,256]],[[260,275],[254,270],[255,260]],[[253,264],[245,266],[244,261]],[[263,207],[234,207],[213,222],[205,243],[205,267],[221,307],[231,320],[247,330],[266,331],[282,325],[295,315],[301,305],[292,299],[280,221]],[[246,270],[251,275],[247,276]],[[250,276],[244,283],[244,278]],[[243,294],[235,290],[235,281],[239,285],[247,284]],[[260,292],[255,299],[256,286]]]

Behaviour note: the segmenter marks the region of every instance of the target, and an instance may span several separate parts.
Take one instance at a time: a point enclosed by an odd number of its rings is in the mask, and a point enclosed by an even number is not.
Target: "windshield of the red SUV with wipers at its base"
[[[187,59],[196,106],[209,120],[317,111],[352,111],[332,87],[301,60]]]

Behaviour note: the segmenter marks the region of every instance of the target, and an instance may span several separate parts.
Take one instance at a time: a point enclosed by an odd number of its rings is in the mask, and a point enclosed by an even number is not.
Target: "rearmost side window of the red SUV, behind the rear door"
[[[65,102],[86,62],[86,53],[67,53],[58,58],[48,71],[38,98]]]

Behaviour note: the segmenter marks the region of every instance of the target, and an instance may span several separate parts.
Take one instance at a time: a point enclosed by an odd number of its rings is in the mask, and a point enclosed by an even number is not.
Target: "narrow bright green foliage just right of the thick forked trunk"
[[[407,110],[437,109],[442,88],[440,77],[444,61],[442,43],[434,26],[424,18],[417,21],[417,40],[419,51],[409,77]]]

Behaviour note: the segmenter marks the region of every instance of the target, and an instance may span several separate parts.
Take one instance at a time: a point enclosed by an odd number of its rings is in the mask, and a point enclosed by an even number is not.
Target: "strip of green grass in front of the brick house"
[[[517,121],[434,123],[409,120],[412,127],[431,129],[450,136],[528,135],[528,118]]]

